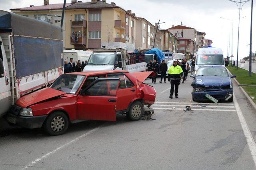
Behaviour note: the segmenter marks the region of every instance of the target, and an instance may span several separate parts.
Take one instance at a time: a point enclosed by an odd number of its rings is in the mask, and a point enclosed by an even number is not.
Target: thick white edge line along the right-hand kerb
[[[248,125],[244,119],[244,115],[240,109],[240,106],[236,100],[236,97],[234,95],[234,104],[235,104],[235,107],[236,107],[236,113],[238,115],[238,118],[239,118],[239,121],[240,121],[240,124],[242,126],[242,129],[244,131],[244,136],[246,138],[246,141],[248,143],[248,147],[250,149],[250,152],[252,154],[252,158],[254,160],[254,165],[256,166],[256,144],[255,144],[255,141],[252,137],[252,134],[250,132],[250,129],[248,128]]]

